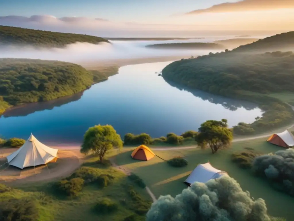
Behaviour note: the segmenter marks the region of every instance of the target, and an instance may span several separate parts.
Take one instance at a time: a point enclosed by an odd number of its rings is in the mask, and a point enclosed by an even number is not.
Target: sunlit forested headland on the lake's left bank
[[[0,113],[9,105],[78,93],[117,71],[117,67],[87,71],[80,65],[60,61],[0,59]]]

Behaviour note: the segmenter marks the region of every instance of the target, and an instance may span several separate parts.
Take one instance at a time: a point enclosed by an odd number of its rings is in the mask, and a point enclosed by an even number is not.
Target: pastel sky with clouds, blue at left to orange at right
[[[293,31],[294,0],[0,0],[0,25],[69,32]]]

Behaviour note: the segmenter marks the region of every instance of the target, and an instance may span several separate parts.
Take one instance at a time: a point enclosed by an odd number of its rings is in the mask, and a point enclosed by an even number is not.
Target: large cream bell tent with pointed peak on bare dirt
[[[6,156],[8,164],[20,169],[47,164],[57,156],[58,149],[50,148],[38,141],[33,134],[17,151]]]

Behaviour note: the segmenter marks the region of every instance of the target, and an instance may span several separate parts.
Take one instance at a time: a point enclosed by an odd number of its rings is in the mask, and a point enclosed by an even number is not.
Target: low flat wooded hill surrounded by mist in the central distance
[[[149,44],[146,47],[158,49],[225,49],[225,46],[221,44],[202,42]]]

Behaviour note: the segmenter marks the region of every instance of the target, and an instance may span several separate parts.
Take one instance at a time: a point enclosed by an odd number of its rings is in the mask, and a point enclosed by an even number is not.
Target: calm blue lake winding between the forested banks
[[[234,126],[261,116],[255,104],[171,86],[155,73],[169,63],[124,66],[83,93],[12,109],[0,118],[0,134],[26,139],[33,133],[47,144],[76,143],[97,124],[111,124],[122,137],[143,132],[159,137],[197,130],[210,119],[226,118]]]

